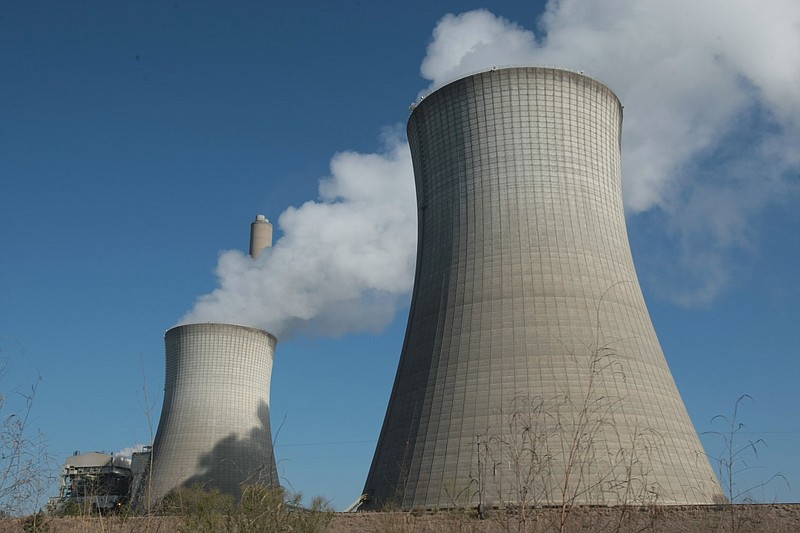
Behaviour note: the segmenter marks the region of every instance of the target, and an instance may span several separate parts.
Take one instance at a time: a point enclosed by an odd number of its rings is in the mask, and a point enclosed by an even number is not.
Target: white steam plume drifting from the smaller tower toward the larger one
[[[391,322],[413,283],[417,218],[408,145],[396,134],[384,145],[380,154],[336,154],[320,199],[284,211],[283,236],[257,260],[222,253],[219,288],[182,322],[247,324],[279,338]]]

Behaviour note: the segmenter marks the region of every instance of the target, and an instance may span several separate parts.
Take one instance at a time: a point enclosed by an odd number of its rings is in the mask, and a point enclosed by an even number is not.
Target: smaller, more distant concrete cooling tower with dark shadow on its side
[[[164,341],[150,502],[195,484],[236,497],[242,484],[277,487],[269,424],[275,337],[233,324],[188,324]]]

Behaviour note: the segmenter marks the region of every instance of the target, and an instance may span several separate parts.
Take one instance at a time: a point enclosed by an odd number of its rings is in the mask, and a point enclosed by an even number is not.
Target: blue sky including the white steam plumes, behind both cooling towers
[[[33,424],[58,464],[148,442],[143,384],[155,426],[164,331],[220,283],[243,287],[277,309],[252,321],[280,330],[271,408],[285,484],[345,507],[407,318],[409,104],[482,68],[556,65],[625,105],[631,245],[698,432],[752,396],[742,436],[768,446],[740,485],[780,472],[791,490],[754,495],[798,501],[800,7],[662,4],[4,2],[5,409],[41,375]],[[257,213],[284,259],[238,279],[225,265]],[[308,305],[270,298],[286,286]]]

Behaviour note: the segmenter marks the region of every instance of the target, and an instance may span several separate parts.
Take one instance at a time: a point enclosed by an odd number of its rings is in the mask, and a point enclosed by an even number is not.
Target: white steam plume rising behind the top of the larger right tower
[[[800,2],[551,0],[539,27],[537,38],[486,10],[446,15],[421,66],[428,91],[520,64],[608,84],[625,106],[628,213],[663,228],[648,254],[683,271],[665,292],[709,302],[730,255],[753,248],[754,216],[797,192]]]

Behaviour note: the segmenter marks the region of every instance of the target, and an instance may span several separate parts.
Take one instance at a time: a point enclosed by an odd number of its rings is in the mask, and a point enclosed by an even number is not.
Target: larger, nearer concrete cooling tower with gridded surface
[[[412,111],[416,278],[368,507],[711,503],[625,228],[622,106],[549,68]]]

